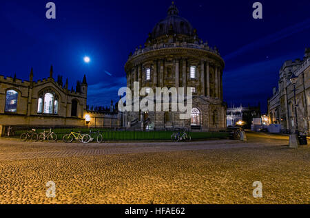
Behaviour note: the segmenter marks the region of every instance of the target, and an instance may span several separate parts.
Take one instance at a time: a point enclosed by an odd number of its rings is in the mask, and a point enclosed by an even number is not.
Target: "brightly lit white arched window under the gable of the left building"
[[[57,114],[59,109],[59,98],[50,89],[45,89],[39,93],[38,113]]]

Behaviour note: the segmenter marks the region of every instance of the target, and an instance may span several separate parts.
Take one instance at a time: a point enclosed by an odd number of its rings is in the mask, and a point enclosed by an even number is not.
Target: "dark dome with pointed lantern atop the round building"
[[[168,8],[167,17],[159,21],[152,30],[152,39],[156,39],[160,36],[167,34],[183,34],[192,36],[194,34],[194,28],[191,23],[178,16],[178,8],[172,2],[172,6]]]

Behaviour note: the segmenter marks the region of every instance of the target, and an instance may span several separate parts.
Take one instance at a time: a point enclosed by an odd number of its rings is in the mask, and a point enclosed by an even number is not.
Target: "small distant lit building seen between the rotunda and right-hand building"
[[[248,106],[248,107],[230,107],[227,108],[226,113],[227,127],[236,127],[237,122],[244,122],[244,127],[246,129],[251,129],[251,122],[253,118],[260,118],[260,104],[258,106]]]

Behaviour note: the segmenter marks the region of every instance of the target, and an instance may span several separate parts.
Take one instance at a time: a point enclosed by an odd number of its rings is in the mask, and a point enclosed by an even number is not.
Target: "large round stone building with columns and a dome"
[[[225,63],[216,47],[199,38],[192,24],[179,16],[172,3],[167,17],[149,33],[145,46],[130,54],[125,64],[127,87],[191,87],[191,118],[180,119],[180,112],[125,112],[128,129],[170,129],[186,127],[198,131],[219,131],[226,127],[223,103],[223,69]]]

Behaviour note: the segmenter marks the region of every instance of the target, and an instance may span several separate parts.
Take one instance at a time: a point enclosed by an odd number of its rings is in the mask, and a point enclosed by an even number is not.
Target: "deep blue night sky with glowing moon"
[[[52,1],[52,0],[51,0]],[[2,0],[0,3],[0,74],[28,80],[69,78],[70,87],[87,75],[89,105],[110,105],[126,84],[124,65],[143,45],[154,25],[166,17],[171,1],[54,0],[56,19],[45,18],[48,1]],[[263,19],[252,18],[255,1],[175,1],[180,16],[198,35],[216,45],[226,67],[224,98],[228,105],[261,102],[266,111],[272,87],[278,86],[283,61],[303,58],[310,42],[310,1],[260,1]],[[83,56],[92,62],[83,63]],[[108,73],[105,73],[108,72]],[[111,76],[112,75],[112,76]]]

